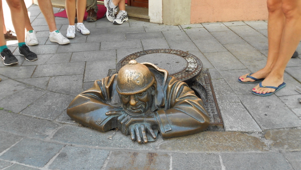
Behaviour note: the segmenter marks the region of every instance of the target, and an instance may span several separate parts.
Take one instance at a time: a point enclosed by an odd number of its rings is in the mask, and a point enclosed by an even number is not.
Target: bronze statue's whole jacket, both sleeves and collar
[[[194,91],[184,82],[168,76],[167,71],[150,70],[157,81],[151,112],[155,114],[162,136],[185,136],[205,130],[209,125],[209,117],[202,100]],[[76,96],[69,104],[68,116],[101,132],[117,128],[117,116],[105,115],[108,111],[122,108],[116,91],[116,78],[117,74],[114,74],[96,80],[92,88]]]

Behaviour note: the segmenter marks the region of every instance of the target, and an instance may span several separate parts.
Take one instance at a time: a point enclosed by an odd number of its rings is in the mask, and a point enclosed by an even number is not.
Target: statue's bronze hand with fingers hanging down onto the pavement
[[[148,123],[135,123],[130,126],[130,134],[133,141],[137,140],[138,143],[147,143],[148,137],[146,133],[149,133],[154,139],[157,138],[151,129],[151,125]]]

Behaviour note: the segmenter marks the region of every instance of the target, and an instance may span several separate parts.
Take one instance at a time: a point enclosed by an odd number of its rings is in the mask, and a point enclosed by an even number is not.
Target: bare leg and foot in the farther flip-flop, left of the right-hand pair
[[[268,0],[268,60],[264,68],[252,74],[257,79],[266,78],[274,67],[279,56],[279,48],[284,29],[285,17],[282,11],[282,0]],[[241,76],[242,82],[254,82],[247,78],[248,74]]]

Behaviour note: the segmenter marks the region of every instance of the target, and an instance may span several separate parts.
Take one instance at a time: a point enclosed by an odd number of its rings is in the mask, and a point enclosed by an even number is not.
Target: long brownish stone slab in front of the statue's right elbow
[[[264,152],[268,151],[268,147],[259,138],[239,132],[201,132],[166,138],[158,150],[181,153]]]

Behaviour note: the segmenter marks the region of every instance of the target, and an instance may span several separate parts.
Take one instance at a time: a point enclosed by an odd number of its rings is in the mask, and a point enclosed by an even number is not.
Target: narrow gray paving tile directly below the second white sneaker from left
[[[100,50],[100,43],[75,43],[59,46],[57,53],[62,52],[81,52],[81,51],[97,51]]]

